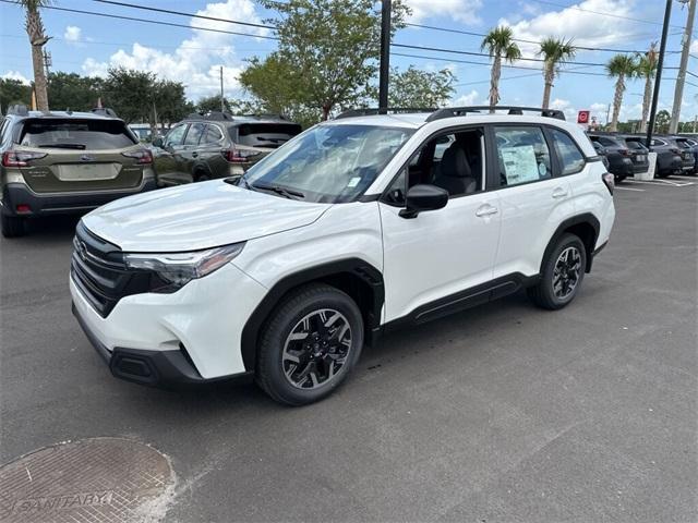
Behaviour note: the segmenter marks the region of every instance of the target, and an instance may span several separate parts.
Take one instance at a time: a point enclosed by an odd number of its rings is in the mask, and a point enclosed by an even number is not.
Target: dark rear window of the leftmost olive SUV
[[[121,149],[135,138],[119,120],[37,119],[26,120],[17,141],[27,147],[64,149]]]

